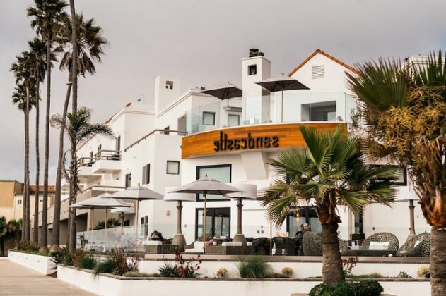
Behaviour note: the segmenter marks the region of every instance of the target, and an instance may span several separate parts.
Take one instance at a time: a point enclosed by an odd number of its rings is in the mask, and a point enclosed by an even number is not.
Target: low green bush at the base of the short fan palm
[[[375,280],[359,282],[341,282],[337,285],[315,285],[310,296],[378,296],[384,291],[382,285]]]

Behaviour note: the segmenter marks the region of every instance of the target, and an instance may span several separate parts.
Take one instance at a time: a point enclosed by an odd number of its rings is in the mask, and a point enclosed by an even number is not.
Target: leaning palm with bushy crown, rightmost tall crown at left
[[[99,26],[94,25],[94,20],[85,20],[82,14],[78,14],[76,18],[77,22],[77,34],[78,34],[78,63],[76,67],[76,72],[85,77],[86,73],[93,75],[96,72],[95,61],[101,62],[101,55],[104,54],[102,49],[107,40],[102,37],[102,29]],[[61,58],[60,69],[69,70],[68,87],[66,91],[66,98],[64,103],[64,111],[62,113],[62,118],[66,118],[66,113],[68,112],[69,98],[71,92],[71,85],[74,87],[73,78],[73,59],[74,59],[74,47],[70,46],[71,43],[71,22],[66,22],[64,34],[62,35],[61,45],[58,51],[64,51],[64,55]],[[73,89],[74,94],[74,89]],[[74,108],[77,108],[74,106]],[[65,122],[65,121],[62,121]],[[53,219],[53,230],[52,230],[52,242],[51,249],[55,252],[59,248],[59,233],[60,233],[60,198],[61,198],[61,173],[63,164],[63,154],[64,154],[64,125],[60,127],[59,133],[59,159],[57,163],[57,175],[56,175],[56,194],[54,198],[54,219]],[[73,151],[76,147],[71,147]],[[76,154],[73,154],[71,161],[76,161]],[[71,192],[70,195],[73,193]],[[75,200],[75,199],[71,199]]]

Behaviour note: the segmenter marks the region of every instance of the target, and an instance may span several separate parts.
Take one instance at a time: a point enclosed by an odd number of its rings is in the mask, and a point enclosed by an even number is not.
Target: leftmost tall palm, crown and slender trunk
[[[25,230],[23,232],[23,240],[30,240],[30,173],[29,173],[29,114],[30,114],[30,102],[31,92],[35,87],[35,79],[33,73],[30,71],[32,66],[32,58],[28,51],[23,51],[20,56],[16,56],[16,62],[11,65],[11,70],[16,77],[16,83],[21,87],[16,88],[16,92],[13,94],[13,104],[18,104],[19,108],[23,108],[25,114],[25,175],[24,175],[24,192],[23,192],[23,218],[25,219]],[[34,96],[33,96],[34,97]]]

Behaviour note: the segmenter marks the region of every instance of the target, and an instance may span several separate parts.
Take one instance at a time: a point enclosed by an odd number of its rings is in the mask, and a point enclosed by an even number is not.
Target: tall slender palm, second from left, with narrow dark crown
[[[35,205],[34,205],[34,221],[33,221],[33,242],[38,243],[38,231],[39,229],[39,193],[38,186],[40,184],[40,152],[39,152],[39,102],[37,97],[40,95],[40,83],[45,79],[45,72],[47,70],[47,50],[45,42],[35,37],[33,40],[28,41],[30,47],[30,58],[32,59],[32,68],[30,69],[35,78]],[[56,58],[54,54],[51,56],[51,60]]]

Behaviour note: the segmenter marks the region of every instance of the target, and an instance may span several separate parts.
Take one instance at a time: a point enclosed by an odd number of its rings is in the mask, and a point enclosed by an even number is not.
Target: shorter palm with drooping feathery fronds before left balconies
[[[108,125],[102,123],[90,123],[91,111],[85,107],[79,108],[74,113],[68,113],[66,119],[60,115],[54,115],[51,118],[52,126],[61,128],[62,125],[65,126],[65,133],[69,138],[71,147],[77,147],[81,142],[85,142],[90,137],[95,135],[104,135],[105,137],[112,137],[113,133]],[[72,154],[73,152],[69,150]],[[78,168],[77,162],[71,161],[70,163],[70,174],[68,175],[70,186],[72,187],[73,195],[70,199],[74,198],[76,200],[76,195],[78,192]],[[70,200],[70,204],[74,203]],[[69,249],[73,252],[76,249],[76,211],[74,213],[70,211],[69,213]]]

